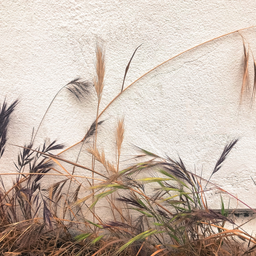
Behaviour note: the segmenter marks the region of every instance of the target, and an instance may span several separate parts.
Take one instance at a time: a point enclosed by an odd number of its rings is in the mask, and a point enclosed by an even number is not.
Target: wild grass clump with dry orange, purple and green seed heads
[[[247,75],[249,53],[244,38],[243,43],[245,68],[241,98],[250,88]],[[97,133],[104,128],[103,112],[134,84],[124,88],[132,58],[125,70],[121,92],[102,112],[99,112],[99,106],[106,67],[102,42],[96,43],[92,82],[78,77],[60,89],[66,88],[79,101],[92,97],[94,90],[96,92],[95,120],[80,141],[68,147],[56,140],[35,146],[41,121],[30,143],[17,145],[20,151],[14,161],[14,170],[0,173],[2,255],[254,255],[256,238],[236,225],[232,213],[225,209],[222,197],[220,211],[209,208],[206,192],[218,190],[243,202],[210,179],[204,180],[201,175],[188,170],[181,158],[175,160],[136,148],[139,153],[132,158],[133,164],[125,169],[120,167],[124,116],[118,119],[116,131],[113,131],[116,134],[113,142],[116,160],[108,160],[104,147],[98,146]],[[251,102],[254,89],[255,81]],[[17,103],[15,100],[8,105],[4,100],[0,106],[0,157],[4,154],[8,126]],[[234,138],[227,142],[211,177],[222,168],[238,141],[239,138]],[[80,146],[76,162],[60,156],[76,145]],[[82,148],[88,153],[90,166],[78,164]],[[72,172],[66,170],[63,162],[73,166]],[[87,175],[76,175],[76,168],[84,169]],[[16,177],[11,187],[4,183],[3,175]],[[49,184],[49,176],[54,176],[53,183]]]

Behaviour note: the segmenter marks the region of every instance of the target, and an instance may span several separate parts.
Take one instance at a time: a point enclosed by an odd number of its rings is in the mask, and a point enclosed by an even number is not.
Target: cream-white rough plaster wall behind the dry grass
[[[246,4],[245,4],[246,2]],[[9,143],[30,140],[58,90],[78,75],[91,78],[94,44],[106,47],[106,85],[100,104],[120,92],[126,65],[136,52],[125,86],[164,60],[206,40],[256,25],[254,0],[246,1],[1,1],[0,100],[20,98]],[[256,29],[241,32],[256,55]],[[252,70],[250,58],[250,70]],[[115,126],[125,116],[122,160],[137,152],[178,154],[188,170],[208,178],[224,144],[242,136],[212,177],[222,188],[256,208],[256,110],[239,109],[243,45],[238,33],[204,44],[160,66],[120,96],[104,114],[98,144],[114,160]],[[253,81],[253,72],[251,81]],[[38,132],[67,146],[81,140],[96,116],[96,95],[79,103],[68,90],[54,100]],[[79,147],[63,155],[75,161]],[[15,172],[18,149],[8,145],[1,172]],[[82,151],[79,163],[88,163]],[[68,170],[72,167],[65,165]],[[122,162],[126,166],[126,162]],[[86,174],[77,169],[77,174]],[[9,180],[12,179],[4,177]],[[53,178],[49,178],[49,182]],[[228,197],[225,197],[226,202]],[[227,202],[228,203],[228,202]],[[219,195],[208,199],[219,208]],[[236,201],[232,201],[236,207]],[[239,205],[239,208],[245,206]]]

